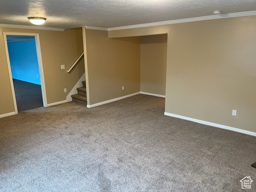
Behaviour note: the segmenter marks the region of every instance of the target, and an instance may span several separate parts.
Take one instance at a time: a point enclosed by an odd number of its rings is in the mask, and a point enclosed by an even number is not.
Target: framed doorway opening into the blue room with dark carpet
[[[16,114],[46,106],[38,34],[4,33]]]

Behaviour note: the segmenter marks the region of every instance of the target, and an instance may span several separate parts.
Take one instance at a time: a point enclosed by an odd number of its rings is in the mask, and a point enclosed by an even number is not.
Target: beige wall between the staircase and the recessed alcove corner
[[[140,38],[110,39],[107,31],[88,29],[85,35],[90,91],[88,104],[139,92]]]

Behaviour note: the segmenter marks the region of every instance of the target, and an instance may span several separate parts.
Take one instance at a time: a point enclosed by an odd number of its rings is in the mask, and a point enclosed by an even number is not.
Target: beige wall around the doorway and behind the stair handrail
[[[84,74],[83,59],[70,74],[66,72],[83,52],[82,28],[63,32],[18,28],[0,29],[0,65],[3,69],[0,72],[0,86],[1,90],[5,90],[0,95],[0,101],[3,102],[3,104],[1,103],[0,114],[14,111],[2,32],[39,34],[47,103],[66,100],[68,93]],[[60,65],[63,64],[66,68],[61,70]],[[64,93],[64,88],[67,88],[66,93]]]

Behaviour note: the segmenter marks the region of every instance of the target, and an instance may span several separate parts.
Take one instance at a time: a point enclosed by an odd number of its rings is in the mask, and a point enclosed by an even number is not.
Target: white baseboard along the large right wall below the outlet
[[[246,131],[246,130],[242,130],[242,129],[238,129],[238,128],[234,128],[234,127],[229,127],[229,126],[225,126],[225,125],[220,125],[220,124],[216,124],[216,123],[211,123],[211,122],[207,122],[207,121],[202,121],[202,120],[198,120],[198,119],[184,117],[184,116],[180,116],[180,115],[176,115],[176,114],[171,114],[171,113],[167,113],[167,112],[164,112],[164,114],[167,115],[167,116],[176,117],[176,118],[180,118],[180,119],[185,119],[185,120],[197,122],[197,123],[204,124],[204,125],[210,125],[210,126],[213,126],[213,127],[218,127],[218,128],[222,128],[222,129],[228,129],[228,130],[231,130],[231,131],[235,131],[235,132],[239,132],[239,133],[244,133],[244,134],[256,136],[255,132],[250,132],[250,131]]]

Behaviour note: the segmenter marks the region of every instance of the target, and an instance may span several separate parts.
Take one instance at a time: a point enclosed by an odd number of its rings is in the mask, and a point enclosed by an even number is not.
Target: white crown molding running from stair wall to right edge
[[[93,29],[93,30],[114,31],[114,30],[133,29],[133,28],[141,28],[141,27],[151,27],[151,26],[169,25],[169,24],[176,24],[176,23],[186,23],[186,22],[194,22],[194,21],[223,19],[223,18],[230,18],[230,17],[243,17],[243,16],[252,16],[252,15],[256,15],[256,11],[228,13],[228,14],[219,14],[219,15],[208,15],[208,16],[202,16],[202,17],[169,20],[169,21],[145,23],[145,24],[138,24],[138,25],[112,27],[112,28],[102,28],[102,27],[92,27],[92,26],[86,26],[86,28]]]

